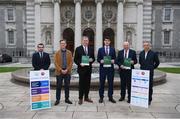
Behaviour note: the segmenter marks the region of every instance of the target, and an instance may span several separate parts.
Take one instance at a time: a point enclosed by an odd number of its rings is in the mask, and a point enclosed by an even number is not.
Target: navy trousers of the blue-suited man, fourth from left
[[[113,82],[114,82],[114,69],[113,68],[101,68],[100,69],[100,84],[99,84],[99,96],[104,97],[104,85],[108,80],[108,97],[113,97]]]

